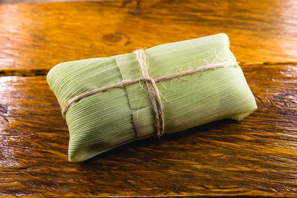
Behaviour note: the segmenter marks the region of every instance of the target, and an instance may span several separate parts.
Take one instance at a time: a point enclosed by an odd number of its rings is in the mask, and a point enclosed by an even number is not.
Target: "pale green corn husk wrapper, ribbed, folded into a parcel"
[[[236,61],[225,34],[145,50],[149,76],[209,63]],[[61,107],[81,93],[140,77],[134,53],[64,62],[47,76]],[[257,106],[239,66],[221,67],[156,83],[165,110],[164,134],[215,120],[240,120]],[[69,160],[79,162],[111,148],[154,135],[153,111],[144,82],[113,88],[74,102],[67,111]]]

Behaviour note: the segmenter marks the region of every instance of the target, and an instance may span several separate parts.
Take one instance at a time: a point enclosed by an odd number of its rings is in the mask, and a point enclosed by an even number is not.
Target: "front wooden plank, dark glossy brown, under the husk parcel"
[[[46,78],[0,77],[0,196],[294,196],[297,65],[243,65],[259,109],[82,163]]]

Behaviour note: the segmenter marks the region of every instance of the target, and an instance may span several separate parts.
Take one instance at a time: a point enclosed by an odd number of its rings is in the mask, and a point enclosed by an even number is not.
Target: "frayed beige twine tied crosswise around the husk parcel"
[[[221,62],[221,63],[210,63],[210,64],[207,64],[204,66],[200,66],[200,67],[196,67],[193,69],[188,69],[188,70],[180,71],[180,72],[176,72],[176,73],[167,74],[167,75],[160,76],[158,78],[153,79],[153,78],[149,77],[149,75],[148,75],[149,67],[148,67],[147,55],[146,55],[145,51],[143,49],[137,49],[137,50],[134,50],[133,53],[136,54],[136,58],[139,62],[140,68],[141,68],[141,77],[140,78],[133,79],[133,80],[130,80],[130,79],[123,80],[123,81],[113,83],[113,84],[110,84],[107,86],[95,88],[88,92],[77,95],[77,96],[69,99],[67,101],[67,103],[65,104],[65,106],[62,107],[62,116],[65,118],[68,108],[79,99],[88,97],[90,95],[93,95],[93,94],[96,94],[96,93],[99,93],[102,91],[113,89],[116,87],[125,87],[128,85],[137,83],[137,82],[139,82],[139,83],[146,82],[147,87],[148,87],[148,96],[151,101],[152,109],[154,112],[154,124],[156,127],[155,136],[160,138],[164,134],[164,124],[165,124],[164,120],[165,120],[165,118],[164,118],[164,108],[163,108],[162,101],[161,101],[161,95],[157,88],[156,82],[169,80],[172,78],[177,78],[177,77],[188,75],[188,74],[194,74],[199,71],[214,69],[214,68],[218,68],[218,67],[238,66],[238,62],[235,62],[235,61],[228,61],[228,62]]]

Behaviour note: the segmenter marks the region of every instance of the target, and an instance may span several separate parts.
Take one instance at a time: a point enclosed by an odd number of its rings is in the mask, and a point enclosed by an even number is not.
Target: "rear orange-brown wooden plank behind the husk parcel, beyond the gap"
[[[0,75],[224,32],[240,62],[297,61],[295,0],[146,0],[0,5]]]

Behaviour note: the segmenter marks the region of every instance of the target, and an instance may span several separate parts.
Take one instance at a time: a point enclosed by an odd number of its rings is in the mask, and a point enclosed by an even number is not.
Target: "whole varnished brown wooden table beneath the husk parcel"
[[[143,0],[140,14],[120,5],[0,5],[0,196],[296,196],[297,2]],[[257,111],[68,161],[51,67],[221,32]]]

